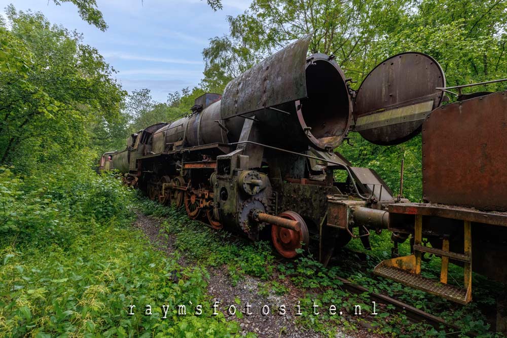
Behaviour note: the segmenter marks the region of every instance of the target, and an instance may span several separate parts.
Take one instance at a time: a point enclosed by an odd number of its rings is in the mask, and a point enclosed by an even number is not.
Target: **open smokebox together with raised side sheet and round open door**
[[[384,60],[352,98],[333,56],[307,56],[310,41],[311,34],[229,82],[221,117],[230,139],[239,139],[244,119],[250,119],[266,144],[294,151],[334,149],[351,126],[372,143],[399,144],[417,135],[442,102],[436,88],[445,86],[443,70],[425,54]]]

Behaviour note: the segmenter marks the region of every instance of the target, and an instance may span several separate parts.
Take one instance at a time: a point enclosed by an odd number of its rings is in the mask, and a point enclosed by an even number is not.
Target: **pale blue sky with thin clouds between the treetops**
[[[97,48],[118,73],[127,91],[149,88],[155,100],[193,87],[204,70],[202,50],[208,40],[229,31],[228,15],[242,13],[249,0],[222,0],[213,12],[206,0],[97,0],[109,28],[88,25],[72,4],[53,0],[0,0],[1,13],[9,4],[17,10],[42,12],[52,23],[84,34],[84,43]]]

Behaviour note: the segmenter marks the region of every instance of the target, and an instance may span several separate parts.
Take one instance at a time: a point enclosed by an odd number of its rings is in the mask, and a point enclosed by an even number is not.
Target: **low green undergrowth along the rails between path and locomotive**
[[[386,232],[372,236],[373,250],[370,252],[359,252],[358,243],[352,241],[349,249],[339,252],[335,263],[325,268],[308,251],[302,251],[300,257],[292,261],[280,259],[273,253],[269,242],[251,242],[225,231],[213,231],[203,223],[188,219],[183,210],[174,210],[147,199],[141,198],[139,205],[144,213],[162,217],[163,233],[172,234],[175,247],[196,264],[205,267],[225,266],[234,284],[244,275],[259,277],[265,281],[260,287],[260,293],[284,294],[296,289],[300,295],[301,308],[307,309],[306,313],[303,311],[303,315],[298,317],[299,323],[329,336],[334,336],[337,326],[349,330],[362,326],[396,337],[447,336],[443,327],[435,329],[428,324],[414,324],[404,313],[396,312],[390,305],[377,304],[378,315],[371,315],[373,309],[369,294],[372,292],[393,296],[416,308],[441,316],[461,327],[460,336],[467,336],[467,333],[480,337],[502,336],[488,331],[485,315],[479,307],[494,304],[491,294],[497,285],[489,284],[490,289],[476,288],[474,292],[478,301],[461,306],[400,283],[374,277],[372,270],[375,265],[390,256],[390,242]],[[408,254],[409,251],[408,243],[400,247],[401,254]],[[438,262],[430,262],[427,266],[424,271],[426,274],[434,275],[439,269]],[[451,269],[450,278],[459,278],[460,273],[462,270],[459,268]],[[342,288],[342,282],[337,277],[348,278],[363,285],[368,292],[350,294]],[[318,316],[311,314],[313,302],[321,310]],[[330,315],[328,309],[331,305],[336,306],[337,311],[343,311],[344,315]],[[361,307],[364,315],[354,315],[356,305]]]

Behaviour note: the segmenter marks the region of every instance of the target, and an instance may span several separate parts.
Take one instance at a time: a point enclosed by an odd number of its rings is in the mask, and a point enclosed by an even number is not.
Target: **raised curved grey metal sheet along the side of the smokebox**
[[[306,97],[306,56],[312,34],[233,79],[222,96],[222,118]]]

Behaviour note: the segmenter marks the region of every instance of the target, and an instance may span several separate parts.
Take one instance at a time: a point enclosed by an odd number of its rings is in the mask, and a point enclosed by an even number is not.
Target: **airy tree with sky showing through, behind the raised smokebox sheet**
[[[389,34],[408,15],[410,0],[254,0],[245,13],[229,17],[229,36],[204,49],[203,86],[224,88],[232,78],[300,37],[313,33],[310,53],[361,64],[372,42]],[[363,71],[364,72],[364,71]]]

